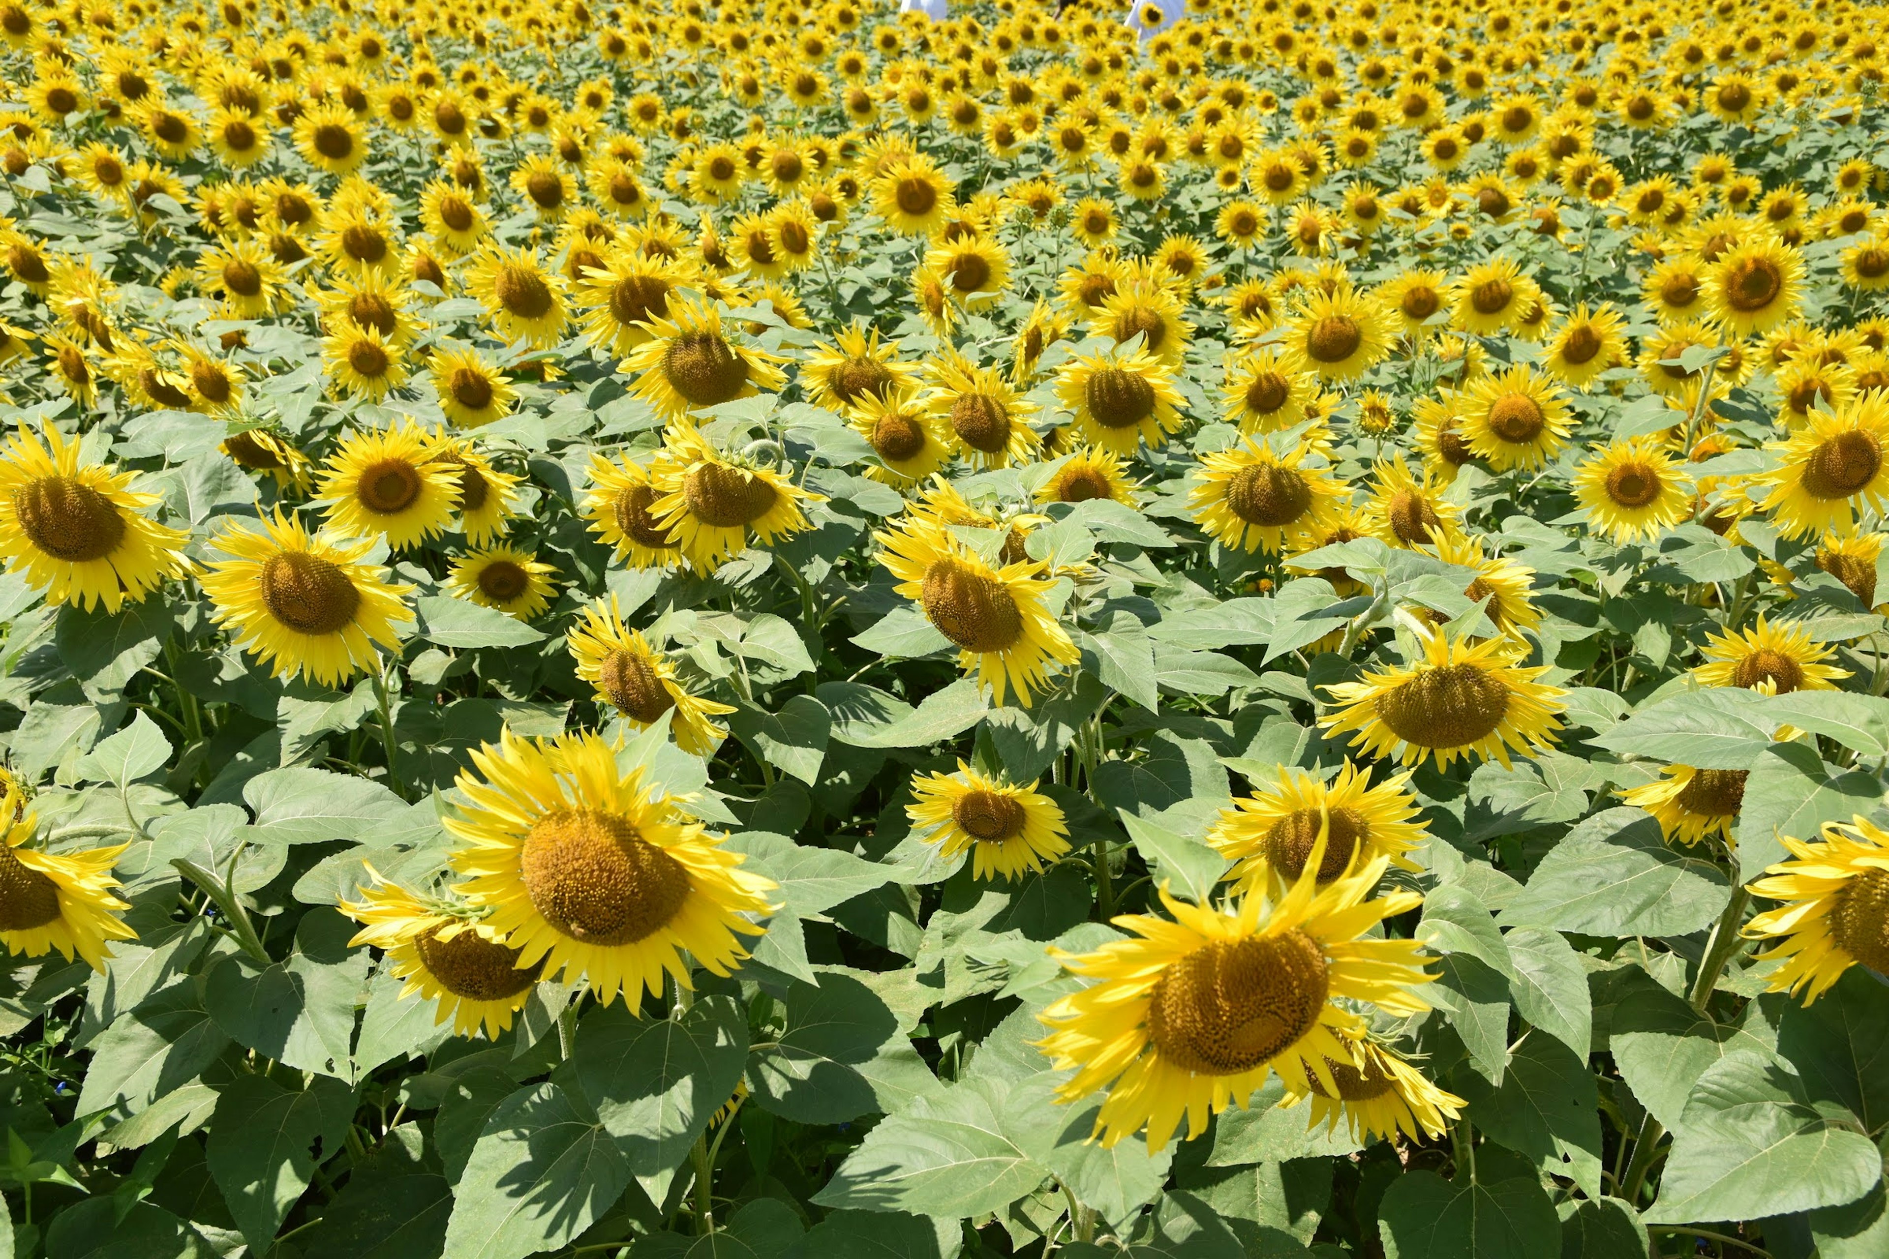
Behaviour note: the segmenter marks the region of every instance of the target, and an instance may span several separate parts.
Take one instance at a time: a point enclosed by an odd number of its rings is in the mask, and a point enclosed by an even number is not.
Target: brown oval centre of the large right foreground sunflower
[[[1303,931],[1217,940],[1167,966],[1149,995],[1149,1038],[1183,1070],[1235,1076],[1305,1036],[1324,1010],[1330,974]]]

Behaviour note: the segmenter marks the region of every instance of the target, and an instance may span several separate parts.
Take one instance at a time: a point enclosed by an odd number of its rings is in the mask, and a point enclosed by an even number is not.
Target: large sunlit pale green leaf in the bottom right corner
[[[1883,1168],[1874,1142],[1844,1119],[1815,1106],[1783,1063],[1727,1055],[1685,1100],[1647,1219],[1762,1219],[1855,1202]]]

